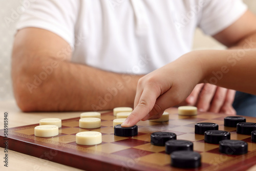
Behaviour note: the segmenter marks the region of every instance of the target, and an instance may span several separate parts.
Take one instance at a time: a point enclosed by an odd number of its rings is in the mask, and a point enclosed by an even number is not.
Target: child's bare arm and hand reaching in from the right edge
[[[122,126],[159,118],[205,82],[256,94],[256,50],[193,51],[145,75],[138,82],[135,109]]]

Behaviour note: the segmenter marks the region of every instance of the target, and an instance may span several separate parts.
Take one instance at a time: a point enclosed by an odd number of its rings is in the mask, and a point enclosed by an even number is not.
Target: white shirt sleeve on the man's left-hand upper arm
[[[74,48],[74,29],[79,12],[79,0],[34,1],[20,16],[16,30],[36,27],[51,31]]]

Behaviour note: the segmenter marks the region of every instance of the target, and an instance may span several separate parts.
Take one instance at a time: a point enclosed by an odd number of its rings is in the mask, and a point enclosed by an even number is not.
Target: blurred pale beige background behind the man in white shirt
[[[26,8],[22,6],[20,0],[0,1],[0,101],[12,100],[11,83],[11,51],[14,37],[15,24],[19,15]],[[249,9],[256,14],[256,1],[244,0]],[[13,11],[19,12],[11,18]],[[8,19],[10,18],[10,19]],[[195,32],[193,49],[224,49],[225,47],[204,35],[199,29]]]

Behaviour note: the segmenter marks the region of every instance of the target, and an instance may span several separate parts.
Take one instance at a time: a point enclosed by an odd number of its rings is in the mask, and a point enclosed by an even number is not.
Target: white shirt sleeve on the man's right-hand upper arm
[[[205,34],[215,35],[236,22],[246,10],[241,0],[205,1],[199,27]]]

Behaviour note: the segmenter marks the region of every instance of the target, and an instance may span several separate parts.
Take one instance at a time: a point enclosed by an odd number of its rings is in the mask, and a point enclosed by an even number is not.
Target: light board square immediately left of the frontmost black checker
[[[138,161],[150,162],[153,164],[164,166],[170,163],[170,155],[163,153],[154,153],[138,158]]]

